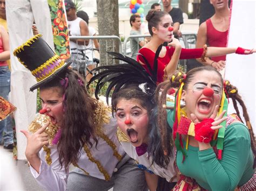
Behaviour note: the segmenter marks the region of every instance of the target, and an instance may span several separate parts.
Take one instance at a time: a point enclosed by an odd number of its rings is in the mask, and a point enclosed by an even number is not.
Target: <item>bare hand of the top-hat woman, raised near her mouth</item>
[[[26,130],[21,130],[21,132],[25,135],[27,144],[25,155],[28,160],[32,157],[37,156],[38,152],[44,145],[49,144],[48,135],[44,133],[44,130],[48,127],[49,122],[43,125],[42,128],[38,129],[32,135],[29,134]]]

